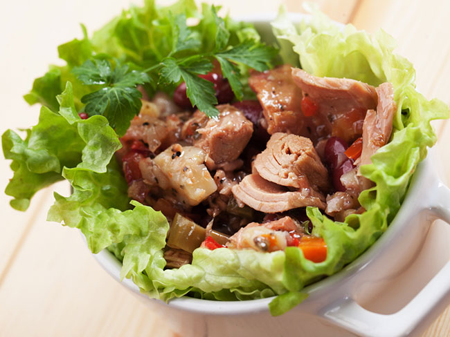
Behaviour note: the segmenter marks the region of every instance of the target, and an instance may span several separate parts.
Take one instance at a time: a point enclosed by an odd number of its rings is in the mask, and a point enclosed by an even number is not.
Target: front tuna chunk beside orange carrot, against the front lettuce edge
[[[288,216],[264,224],[251,222],[231,236],[226,247],[269,252],[284,250],[289,240],[289,232],[303,234],[300,226]]]

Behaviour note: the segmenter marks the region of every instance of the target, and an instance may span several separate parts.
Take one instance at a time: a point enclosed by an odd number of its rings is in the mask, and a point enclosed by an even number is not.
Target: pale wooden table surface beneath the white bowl
[[[134,1],[139,3],[140,1]],[[163,2],[163,1],[161,1]],[[212,1],[208,1],[212,2]],[[301,11],[301,1],[222,0],[232,15],[275,12],[280,3]],[[37,106],[21,95],[32,79],[57,60],[56,46],[81,37],[127,6],[120,0],[10,1],[0,14],[1,133],[37,121]],[[397,52],[417,70],[417,87],[426,97],[450,102],[450,2],[445,0],[320,0],[318,6],[336,21],[375,32],[382,27],[398,41]],[[437,122],[438,151],[450,178],[450,123]],[[1,162],[1,190],[11,176]],[[66,186],[55,186],[67,194]],[[10,209],[0,195],[0,336],[174,336],[167,321],[103,271],[80,234],[46,222],[52,191],[37,193],[30,209]],[[424,336],[450,336],[450,307]]]

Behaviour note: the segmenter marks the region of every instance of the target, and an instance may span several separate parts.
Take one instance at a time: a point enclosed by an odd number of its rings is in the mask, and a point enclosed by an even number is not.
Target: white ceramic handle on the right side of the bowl
[[[435,191],[429,211],[450,224],[450,189],[438,182]],[[449,302],[450,261],[413,300],[394,314],[377,314],[364,309],[352,298],[345,298],[325,308],[322,315],[360,336],[409,336],[428,327]]]

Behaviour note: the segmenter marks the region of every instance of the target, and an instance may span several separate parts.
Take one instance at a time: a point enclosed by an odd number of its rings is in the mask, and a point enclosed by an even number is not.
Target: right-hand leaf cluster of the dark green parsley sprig
[[[215,58],[222,68],[222,75],[228,79],[235,97],[242,100],[244,97],[243,86],[240,77],[240,68],[237,64],[243,64],[250,68],[263,71],[269,68],[269,63],[276,56],[276,49],[258,41],[246,39],[240,44],[228,47],[230,32],[226,28],[224,19],[217,16],[217,8],[210,7],[210,13],[214,19],[215,45],[212,51],[197,53],[187,57],[174,57],[179,50],[195,49],[201,41],[196,35],[192,35],[186,25],[186,16],[177,15],[172,19],[172,52],[165,57],[159,68],[159,84],[178,84],[181,79],[186,82],[186,95],[192,106],[208,117],[217,116],[219,111],[215,108],[217,98],[213,85],[198,77],[198,74],[206,74],[213,68],[211,59]],[[242,68],[242,67],[241,67]]]

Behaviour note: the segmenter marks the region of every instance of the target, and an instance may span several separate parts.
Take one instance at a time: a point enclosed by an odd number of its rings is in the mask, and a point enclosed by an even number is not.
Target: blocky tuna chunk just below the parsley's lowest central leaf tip
[[[217,106],[218,119],[210,118],[203,128],[198,128],[200,137],[194,146],[202,148],[215,162],[233,162],[240,156],[253,133],[253,123],[234,106]]]

